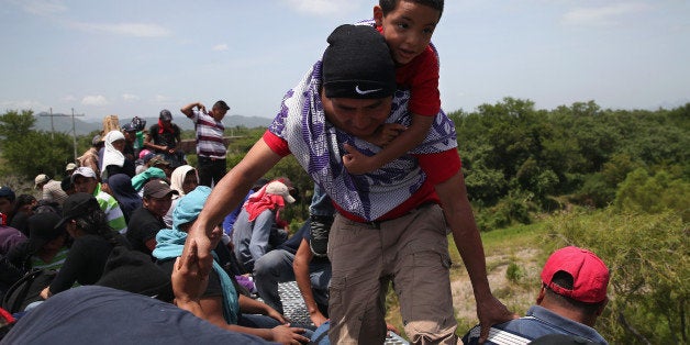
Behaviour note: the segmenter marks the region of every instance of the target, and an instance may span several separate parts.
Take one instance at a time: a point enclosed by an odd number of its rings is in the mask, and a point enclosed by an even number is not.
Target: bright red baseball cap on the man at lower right
[[[552,281],[558,271],[572,276],[571,290]],[[542,281],[558,294],[580,302],[598,303],[606,298],[609,268],[594,253],[569,246],[548,257],[542,270]]]

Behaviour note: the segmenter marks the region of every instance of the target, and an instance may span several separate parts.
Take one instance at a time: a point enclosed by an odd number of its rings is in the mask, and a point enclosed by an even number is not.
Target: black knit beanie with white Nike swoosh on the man
[[[396,66],[383,35],[368,25],[341,25],[323,53],[327,98],[377,99],[396,92]]]

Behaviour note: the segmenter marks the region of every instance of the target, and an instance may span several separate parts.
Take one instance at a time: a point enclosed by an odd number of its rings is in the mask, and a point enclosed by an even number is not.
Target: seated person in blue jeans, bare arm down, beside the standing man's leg
[[[264,302],[283,313],[278,283],[297,280],[300,290],[303,290],[310,318],[314,325],[319,326],[327,319],[324,315],[327,315],[331,263],[327,258],[316,258],[312,261],[312,254],[309,251],[309,226],[308,221],[278,248],[256,260],[254,283]],[[299,252],[298,248],[302,245],[305,245],[308,253]],[[298,270],[301,272],[299,278],[296,277]]]

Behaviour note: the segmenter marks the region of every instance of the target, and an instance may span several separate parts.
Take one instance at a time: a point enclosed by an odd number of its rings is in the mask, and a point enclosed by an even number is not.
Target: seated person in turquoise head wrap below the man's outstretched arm
[[[153,254],[164,269],[175,271],[175,258],[182,255],[187,240],[186,231],[193,225],[210,193],[209,187],[199,186],[182,197],[172,213],[172,229],[158,232]],[[222,233],[220,225],[218,232]],[[308,336],[311,334],[303,329],[290,327],[275,309],[237,294],[231,277],[218,261],[213,261],[208,286],[200,294],[197,300],[199,310],[193,313],[219,327],[258,335],[264,340],[279,343],[309,342]],[[303,333],[308,336],[302,335]]]

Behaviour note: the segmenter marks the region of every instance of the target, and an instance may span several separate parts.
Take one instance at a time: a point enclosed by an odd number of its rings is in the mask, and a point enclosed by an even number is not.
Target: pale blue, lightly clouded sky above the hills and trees
[[[225,100],[272,118],[329,33],[375,0],[0,0],[0,112],[154,116]],[[446,111],[690,102],[690,1],[450,0],[433,42]],[[231,124],[232,125],[232,124]]]

